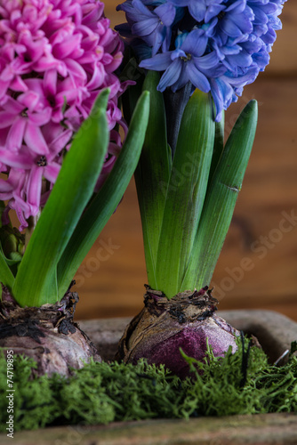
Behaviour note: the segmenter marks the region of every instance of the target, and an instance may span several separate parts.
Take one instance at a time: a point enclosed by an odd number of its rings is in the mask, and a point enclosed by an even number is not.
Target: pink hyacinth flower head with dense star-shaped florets
[[[98,186],[121,148],[125,85],[114,71],[123,43],[103,10],[97,0],[0,2],[0,199],[20,230],[44,206],[64,151],[107,87],[110,143]]]

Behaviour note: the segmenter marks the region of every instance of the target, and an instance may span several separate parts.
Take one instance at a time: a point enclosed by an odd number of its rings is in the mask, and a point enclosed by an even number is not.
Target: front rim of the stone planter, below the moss
[[[1,444],[12,443],[1,434]],[[297,416],[200,417],[108,426],[60,426],[16,433],[17,445],[296,445]]]

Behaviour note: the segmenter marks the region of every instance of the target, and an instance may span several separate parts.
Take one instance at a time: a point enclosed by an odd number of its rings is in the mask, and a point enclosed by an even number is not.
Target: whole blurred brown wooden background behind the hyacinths
[[[124,21],[115,0],[106,15]],[[219,309],[262,308],[297,320],[297,2],[285,4],[271,63],[227,113],[259,101],[253,154],[213,275]],[[133,181],[76,274],[76,319],[133,316],[147,282]]]

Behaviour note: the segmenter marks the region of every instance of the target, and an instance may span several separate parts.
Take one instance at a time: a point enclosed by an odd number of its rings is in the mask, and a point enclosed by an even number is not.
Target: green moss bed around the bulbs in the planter
[[[15,357],[14,429],[45,425],[108,424],[115,420],[189,418],[297,411],[297,358],[292,348],[283,367],[268,364],[259,348],[238,343],[238,351],[204,363],[183,354],[192,378],[181,381],[164,367],[92,362],[73,376],[32,377],[36,364]],[[248,359],[248,360],[247,360]],[[247,365],[247,366],[245,366]],[[0,425],[7,414],[7,365],[0,357]]]

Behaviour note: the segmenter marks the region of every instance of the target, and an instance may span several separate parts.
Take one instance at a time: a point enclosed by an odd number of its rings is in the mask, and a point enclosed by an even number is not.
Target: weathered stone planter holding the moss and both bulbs
[[[219,315],[235,328],[257,336],[271,362],[297,340],[297,323],[277,312],[221,311]],[[129,321],[127,318],[84,320],[79,325],[97,346],[103,360],[112,360]],[[14,441],[18,445],[295,445],[297,416],[267,414],[60,426],[15,433]],[[6,445],[11,439],[0,434],[0,442]]]

